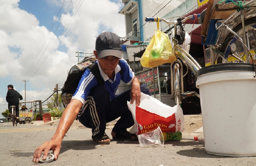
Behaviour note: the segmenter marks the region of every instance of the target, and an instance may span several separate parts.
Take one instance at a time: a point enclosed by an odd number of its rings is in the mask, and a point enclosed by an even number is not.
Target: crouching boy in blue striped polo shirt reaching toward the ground
[[[75,117],[87,128],[92,130],[94,144],[109,144],[110,138],[106,135],[106,123],[120,117],[112,129],[114,140],[138,140],[135,134],[127,131],[134,125],[127,101],[140,105],[141,92],[151,95],[147,87],[140,86],[139,79],[134,76],[130,66],[122,59],[121,41],[113,32],[100,33],[96,38],[93,51],[99,67],[104,85],[98,85],[96,77],[86,69],[76,88],[70,103],[62,114],[58,128],[50,141],[43,143],[34,152],[33,162],[39,162],[42,151],[43,160],[48,151],[54,151],[54,159],[59,156],[62,139]],[[120,72],[121,70],[121,72]],[[116,95],[120,81],[131,84],[131,90]],[[135,100],[135,101],[134,101]]]

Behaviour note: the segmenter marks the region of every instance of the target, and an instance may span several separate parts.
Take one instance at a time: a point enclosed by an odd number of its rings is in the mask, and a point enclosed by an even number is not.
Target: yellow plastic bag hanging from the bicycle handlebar
[[[152,36],[149,45],[143,53],[140,63],[143,67],[156,67],[164,63],[172,63],[176,60],[169,36],[159,30],[159,19],[157,30]]]

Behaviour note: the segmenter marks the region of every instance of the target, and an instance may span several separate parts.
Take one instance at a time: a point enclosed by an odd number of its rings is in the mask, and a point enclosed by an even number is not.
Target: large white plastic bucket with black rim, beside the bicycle
[[[256,78],[252,64],[228,63],[197,72],[205,150],[256,156]]]

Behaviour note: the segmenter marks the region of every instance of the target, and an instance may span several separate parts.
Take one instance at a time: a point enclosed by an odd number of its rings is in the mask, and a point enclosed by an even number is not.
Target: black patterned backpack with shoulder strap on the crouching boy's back
[[[82,75],[84,74],[85,70],[89,69],[91,73],[96,77],[98,81],[98,85],[104,85],[104,80],[101,77],[99,66],[96,63],[92,63],[89,66],[82,66],[74,65],[68,72],[67,79],[64,83],[61,93],[62,102],[64,107],[66,108],[67,104],[70,103],[73,94],[76,91],[79,81],[81,80]]]

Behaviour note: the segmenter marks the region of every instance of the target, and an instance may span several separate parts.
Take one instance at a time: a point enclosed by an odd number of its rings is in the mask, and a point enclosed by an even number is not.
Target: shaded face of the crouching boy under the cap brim
[[[98,59],[98,57],[97,57],[97,59]],[[99,62],[100,68],[103,70],[103,72],[106,75],[111,75],[114,72],[114,70],[119,62],[119,58],[117,58],[115,56],[106,56],[101,59],[98,59],[98,62]]]

